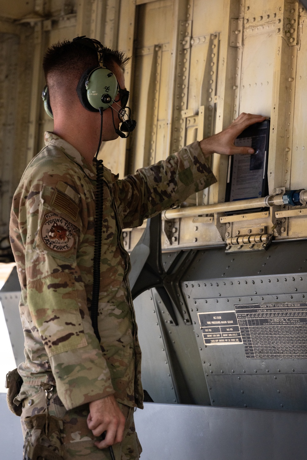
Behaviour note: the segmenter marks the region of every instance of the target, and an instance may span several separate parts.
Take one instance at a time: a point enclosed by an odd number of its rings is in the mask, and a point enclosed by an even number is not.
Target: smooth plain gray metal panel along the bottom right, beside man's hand
[[[145,403],[141,460],[306,460],[307,414]]]

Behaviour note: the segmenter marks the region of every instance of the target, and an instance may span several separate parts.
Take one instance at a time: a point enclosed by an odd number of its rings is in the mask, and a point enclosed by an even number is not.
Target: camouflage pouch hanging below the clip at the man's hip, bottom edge
[[[63,460],[63,420],[46,414],[26,417],[23,460]]]

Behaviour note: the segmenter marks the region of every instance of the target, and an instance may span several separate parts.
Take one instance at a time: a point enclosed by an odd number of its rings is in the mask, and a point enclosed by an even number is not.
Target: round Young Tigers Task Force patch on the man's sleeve
[[[69,251],[75,242],[72,225],[56,213],[46,214],[45,219],[41,227],[43,242],[53,251],[61,253]]]

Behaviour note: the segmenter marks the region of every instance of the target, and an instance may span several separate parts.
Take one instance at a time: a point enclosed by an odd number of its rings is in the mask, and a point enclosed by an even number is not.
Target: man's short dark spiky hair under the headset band
[[[124,69],[129,59],[130,57],[120,51],[104,48],[104,65],[112,71],[114,70],[114,63]],[[43,58],[43,69],[47,83],[48,75],[52,73],[70,75],[70,79],[80,79],[86,69],[98,67],[98,65],[98,55],[94,49],[70,40],[49,46]]]

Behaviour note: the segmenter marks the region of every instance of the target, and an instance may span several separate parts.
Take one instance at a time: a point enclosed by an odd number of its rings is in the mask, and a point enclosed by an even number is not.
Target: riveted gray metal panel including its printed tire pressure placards
[[[185,273],[212,405],[307,410],[306,249],[306,241],[253,255],[207,249]],[[242,305],[256,306],[246,316]]]

